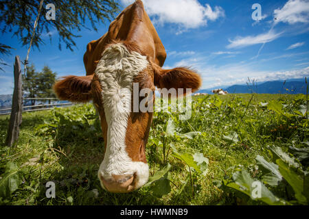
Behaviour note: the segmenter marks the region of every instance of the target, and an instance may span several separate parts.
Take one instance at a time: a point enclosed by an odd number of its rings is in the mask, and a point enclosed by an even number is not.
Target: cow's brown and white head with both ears
[[[139,83],[139,89],[153,91],[155,86],[192,91],[201,86],[201,78],[192,70],[163,70],[122,43],[111,44],[103,52],[94,75],[68,76],[54,86],[59,99],[82,103],[92,100],[98,110],[105,143],[98,177],[110,192],[130,192],[148,181],[145,146],[152,112],[133,112],[134,82]]]

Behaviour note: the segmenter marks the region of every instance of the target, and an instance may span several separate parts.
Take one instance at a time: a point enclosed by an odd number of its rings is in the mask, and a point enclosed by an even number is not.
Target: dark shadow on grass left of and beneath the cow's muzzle
[[[42,200],[42,205],[163,205],[163,201],[152,196],[148,188],[128,194],[113,194],[102,189],[98,170],[104,158],[104,140],[98,124],[76,124],[74,120],[62,118],[52,131],[53,148],[62,149],[57,161],[62,170],[49,171],[51,177],[41,182],[38,200]],[[47,181],[56,183],[53,200],[45,198],[43,185]]]

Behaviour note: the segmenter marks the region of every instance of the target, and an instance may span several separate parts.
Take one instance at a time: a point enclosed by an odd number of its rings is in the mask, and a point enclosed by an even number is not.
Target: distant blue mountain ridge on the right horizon
[[[267,81],[256,86],[233,85],[225,89],[229,93],[251,93],[258,94],[306,94],[306,83],[303,81]]]

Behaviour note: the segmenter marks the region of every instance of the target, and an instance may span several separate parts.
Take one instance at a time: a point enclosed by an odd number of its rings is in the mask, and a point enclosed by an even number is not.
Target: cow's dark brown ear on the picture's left
[[[60,100],[86,103],[92,99],[92,79],[93,75],[63,77],[62,80],[55,83],[54,91]]]

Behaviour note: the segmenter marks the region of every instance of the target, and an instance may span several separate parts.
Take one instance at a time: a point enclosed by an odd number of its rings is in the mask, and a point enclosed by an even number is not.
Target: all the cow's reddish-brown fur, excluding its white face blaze
[[[135,1],[117,16],[104,36],[87,45],[87,51],[84,53],[84,66],[88,76],[64,77],[54,85],[59,99],[72,102],[93,100],[100,114],[105,149],[108,127],[102,103],[102,87],[95,75],[95,68],[102,57],[102,52],[110,44],[119,42],[124,44],[130,52],[135,51],[146,55],[150,62],[147,68],[134,79],[134,82],[139,83],[139,90],[150,88],[155,92],[155,86],[157,86],[167,89],[176,88],[176,90],[177,88],[192,88],[194,92],[201,86],[201,77],[190,68],[170,70],[161,68],[166,57],[165,49],[144,10],[143,3],[140,0]],[[155,101],[155,95],[153,96],[153,101]],[[144,98],[141,97],[141,99]],[[152,116],[151,112],[131,112],[128,118],[126,151],[133,162],[147,163],[145,147],[148,142]]]

